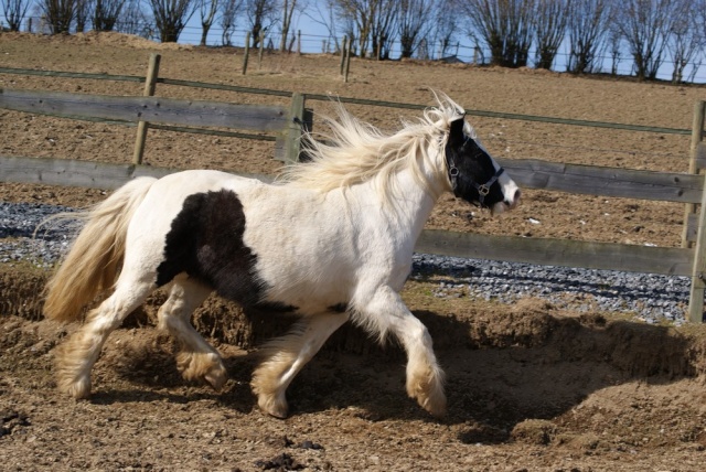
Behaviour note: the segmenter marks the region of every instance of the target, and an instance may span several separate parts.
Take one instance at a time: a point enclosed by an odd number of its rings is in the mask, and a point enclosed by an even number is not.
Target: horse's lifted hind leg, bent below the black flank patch
[[[221,355],[191,325],[193,311],[213,290],[185,275],[174,278],[169,298],[159,309],[159,328],[181,344],[176,368],[186,380],[203,380],[216,390],[227,380]]]

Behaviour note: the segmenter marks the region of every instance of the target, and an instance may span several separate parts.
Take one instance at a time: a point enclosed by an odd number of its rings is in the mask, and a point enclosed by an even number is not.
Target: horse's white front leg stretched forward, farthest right
[[[364,325],[385,337],[393,332],[407,352],[407,394],[436,417],[446,414],[443,371],[439,367],[427,328],[405,305],[395,290],[383,287],[370,299],[362,314]]]

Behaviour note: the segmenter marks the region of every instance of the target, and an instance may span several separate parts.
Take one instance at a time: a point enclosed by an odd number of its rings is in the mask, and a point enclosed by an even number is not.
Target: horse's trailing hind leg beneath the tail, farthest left
[[[90,396],[90,369],[108,335],[138,308],[152,283],[135,281],[125,272],[115,292],[86,317],[86,323],[56,350],[57,387],[74,398]]]

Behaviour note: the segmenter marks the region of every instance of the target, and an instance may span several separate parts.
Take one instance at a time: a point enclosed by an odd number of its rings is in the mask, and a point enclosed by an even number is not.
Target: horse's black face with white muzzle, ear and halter
[[[517,185],[482,146],[466,135],[464,125],[463,118],[451,122],[446,146],[453,194],[493,213],[514,207],[520,200]]]

